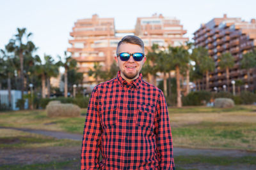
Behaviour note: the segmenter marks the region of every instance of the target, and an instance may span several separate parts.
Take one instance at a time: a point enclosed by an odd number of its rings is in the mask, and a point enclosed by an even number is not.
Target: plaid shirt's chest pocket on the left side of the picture
[[[100,108],[100,121],[104,127],[111,127],[118,121],[118,104],[102,106]]]

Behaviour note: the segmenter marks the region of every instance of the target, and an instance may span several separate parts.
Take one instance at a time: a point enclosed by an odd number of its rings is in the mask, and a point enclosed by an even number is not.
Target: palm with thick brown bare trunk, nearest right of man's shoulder
[[[183,46],[169,46],[168,54],[172,60],[172,66],[175,67],[176,83],[177,83],[177,107],[182,107],[180,94],[180,67],[187,67],[189,62],[189,53]]]

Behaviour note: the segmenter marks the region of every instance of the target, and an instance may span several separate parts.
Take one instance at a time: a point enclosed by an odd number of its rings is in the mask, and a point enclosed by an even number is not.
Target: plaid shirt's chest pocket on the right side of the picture
[[[141,127],[153,127],[154,109],[151,106],[138,105],[136,124]]]

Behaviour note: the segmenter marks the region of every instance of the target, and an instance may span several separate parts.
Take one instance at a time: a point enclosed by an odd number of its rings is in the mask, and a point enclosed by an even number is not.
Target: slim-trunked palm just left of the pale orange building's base
[[[60,61],[57,62],[57,66],[62,66],[65,68],[64,72],[64,96],[68,97],[68,70],[74,69],[76,67],[76,60],[71,57],[71,55],[67,56],[67,52],[64,52],[65,62]]]

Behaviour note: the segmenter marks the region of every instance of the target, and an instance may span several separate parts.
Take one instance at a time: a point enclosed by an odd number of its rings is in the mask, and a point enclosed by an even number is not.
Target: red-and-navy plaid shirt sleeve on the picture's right
[[[163,92],[158,96],[156,106],[156,117],[154,120],[157,157],[159,160],[160,169],[175,170],[173,159],[172,133],[170,120],[168,115],[168,108],[164,99]]]

